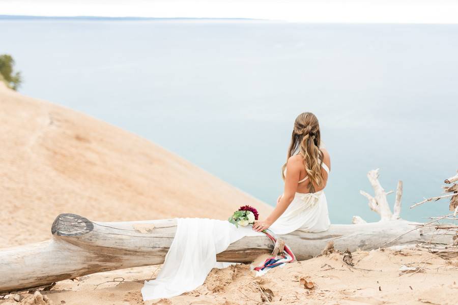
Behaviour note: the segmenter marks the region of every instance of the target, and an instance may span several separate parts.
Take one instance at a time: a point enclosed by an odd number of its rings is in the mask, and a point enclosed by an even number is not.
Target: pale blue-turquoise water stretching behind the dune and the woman
[[[447,211],[408,206],[458,169],[458,25],[0,20],[0,34],[21,93],[148,138],[272,205],[294,118],[312,111],[331,154],[332,222],[378,220],[359,194],[378,167],[386,190],[404,181],[403,218]]]

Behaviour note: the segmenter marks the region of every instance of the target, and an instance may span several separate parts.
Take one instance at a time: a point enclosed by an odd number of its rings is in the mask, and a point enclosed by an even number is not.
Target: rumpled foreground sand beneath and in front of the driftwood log
[[[354,267],[332,253],[294,262],[255,278],[250,266],[213,269],[204,285],[170,299],[143,302],[140,288],[156,277],[160,266],[130,268],[62,281],[46,292],[52,304],[262,304],[262,292],[272,291],[269,304],[456,304],[458,260],[444,260],[425,250],[357,251]],[[400,266],[420,267],[400,275]],[[301,278],[315,284],[300,285]],[[110,282],[110,281],[118,282]],[[98,285],[98,286],[97,286]],[[265,297],[268,298],[268,294]],[[11,298],[12,296],[10,296]],[[22,303],[32,294],[21,293]],[[5,300],[4,304],[16,301]],[[2,304],[2,301],[0,301]]]

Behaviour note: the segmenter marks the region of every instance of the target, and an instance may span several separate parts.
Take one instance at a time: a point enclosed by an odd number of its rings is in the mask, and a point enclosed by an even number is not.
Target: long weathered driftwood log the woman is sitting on
[[[377,180],[378,171],[371,172],[369,179]],[[367,193],[365,196],[369,196],[369,206],[381,215],[382,221],[331,225],[328,231],[321,233],[294,231],[281,238],[298,260],[321,254],[329,241],[334,242],[336,250],[350,251],[378,249],[387,242],[389,246],[432,240],[449,243],[451,236],[436,237],[436,229],[427,227],[403,234],[421,224],[391,214],[389,206],[383,206],[388,205],[383,188],[376,182],[373,187],[376,196]],[[400,193],[402,187],[398,185],[396,206],[399,209]],[[176,219],[104,223],[61,214],[52,224],[50,240],[0,249],[0,293],[43,287],[95,272],[161,264],[175,232]],[[260,254],[272,252],[273,248],[266,236],[244,237],[216,258],[222,262],[251,262]]]

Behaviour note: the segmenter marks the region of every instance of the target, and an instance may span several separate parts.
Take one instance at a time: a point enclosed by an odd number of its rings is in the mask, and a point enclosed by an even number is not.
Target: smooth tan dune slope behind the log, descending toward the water
[[[271,210],[146,139],[3,83],[0,143],[0,248],[49,238],[63,212],[129,221]]]

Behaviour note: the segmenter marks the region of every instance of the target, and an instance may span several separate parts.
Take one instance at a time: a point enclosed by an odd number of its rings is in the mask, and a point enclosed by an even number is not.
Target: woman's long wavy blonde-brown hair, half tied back
[[[311,112],[304,112],[299,114],[294,121],[293,134],[291,136],[291,144],[288,149],[288,159],[293,156],[299,149],[304,156],[304,166],[310,181],[310,193],[315,192],[312,182],[318,186],[323,183],[323,174],[321,166],[323,163],[323,151],[320,150],[321,135],[320,125],[318,124],[317,117]],[[321,159],[321,163],[320,160]],[[281,168],[281,175],[283,180],[284,170],[287,167],[285,163]]]

